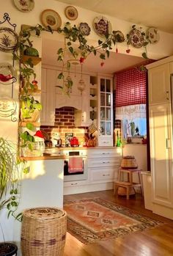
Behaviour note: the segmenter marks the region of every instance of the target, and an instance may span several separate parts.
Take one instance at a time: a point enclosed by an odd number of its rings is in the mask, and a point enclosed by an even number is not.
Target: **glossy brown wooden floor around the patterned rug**
[[[65,200],[80,200],[83,198],[101,197],[117,202],[146,216],[165,222],[163,226],[139,233],[126,235],[125,238],[97,241],[95,244],[85,245],[67,233],[64,256],[173,256],[173,221],[153,214],[144,209],[144,201],[140,194],[125,197],[114,197],[113,191],[97,191],[84,194],[65,196]]]

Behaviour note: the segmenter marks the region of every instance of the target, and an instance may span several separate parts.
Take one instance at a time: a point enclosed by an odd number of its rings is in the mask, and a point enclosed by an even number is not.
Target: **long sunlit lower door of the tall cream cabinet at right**
[[[153,202],[173,207],[172,117],[169,104],[150,106]]]

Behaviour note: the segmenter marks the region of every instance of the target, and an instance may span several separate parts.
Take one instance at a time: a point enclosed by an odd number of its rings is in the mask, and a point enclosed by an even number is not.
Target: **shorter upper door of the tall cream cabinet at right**
[[[169,103],[171,98],[169,63],[150,69],[148,78],[149,104]]]

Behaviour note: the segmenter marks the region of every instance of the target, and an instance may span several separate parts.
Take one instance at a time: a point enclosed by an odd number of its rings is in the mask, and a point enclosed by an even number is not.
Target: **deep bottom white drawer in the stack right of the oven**
[[[111,182],[117,180],[118,171],[115,168],[108,167],[102,169],[92,169],[90,171],[92,183]]]

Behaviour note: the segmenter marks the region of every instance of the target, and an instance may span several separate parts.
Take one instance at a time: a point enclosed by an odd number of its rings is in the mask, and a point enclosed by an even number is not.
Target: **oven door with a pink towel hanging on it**
[[[73,168],[72,168],[73,164]],[[64,180],[87,180],[87,157],[69,156],[64,161]]]

